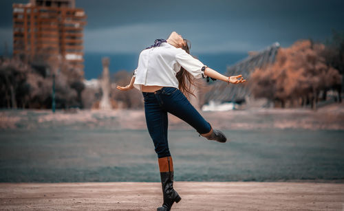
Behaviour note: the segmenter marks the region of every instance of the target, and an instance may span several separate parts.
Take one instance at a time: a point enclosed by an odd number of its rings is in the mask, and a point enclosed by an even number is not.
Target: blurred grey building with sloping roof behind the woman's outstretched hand
[[[242,75],[248,80],[250,74],[256,68],[263,68],[275,62],[278,49],[279,43],[273,43],[259,52],[248,52],[247,58],[240,60],[233,66],[227,67],[226,76]],[[216,102],[219,105],[224,102],[246,102],[246,104],[266,106],[265,103],[261,104],[252,98],[250,89],[247,87],[247,82],[239,85],[227,85],[226,82],[215,82],[204,98],[204,102]]]

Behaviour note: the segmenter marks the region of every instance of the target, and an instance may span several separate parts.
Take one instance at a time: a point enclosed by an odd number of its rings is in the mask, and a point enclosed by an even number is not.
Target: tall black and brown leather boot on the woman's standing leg
[[[173,189],[173,161],[172,157],[161,157],[158,159],[160,177],[162,184],[162,195],[164,196],[164,203],[158,211],[169,211],[174,202],[178,203],[182,198],[178,192]]]

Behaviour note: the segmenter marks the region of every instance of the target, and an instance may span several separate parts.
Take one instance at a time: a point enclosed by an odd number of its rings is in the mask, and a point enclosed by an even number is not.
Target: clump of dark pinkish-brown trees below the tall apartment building
[[[0,58],[0,107],[50,109],[52,75],[56,74],[56,108],[82,107],[83,74],[59,61],[43,59],[25,63],[19,58]]]

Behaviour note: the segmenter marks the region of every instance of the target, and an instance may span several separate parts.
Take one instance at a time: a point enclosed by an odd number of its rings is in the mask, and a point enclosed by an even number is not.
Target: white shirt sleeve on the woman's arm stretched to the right
[[[193,58],[190,54],[186,53],[184,49],[180,49],[178,54],[175,54],[175,60],[184,67],[186,71],[189,71],[190,74],[195,78],[202,78],[202,67],[204,64],[197,58]]]

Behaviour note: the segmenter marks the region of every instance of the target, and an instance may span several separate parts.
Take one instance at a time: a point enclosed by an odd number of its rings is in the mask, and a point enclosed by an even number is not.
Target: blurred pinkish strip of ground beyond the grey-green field
[[[308,129],[344,130],[344,102],[311,109],[259,109],[211,111],[200,113],[217,129]],[[1,129],[44,129],[58,126],[70,129],[147,130],[143,109],[111,111],[76,110],[0,110]],[[169,129],[191,129],[169,114]]]

